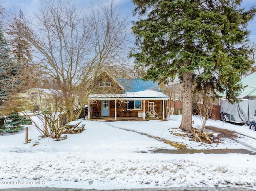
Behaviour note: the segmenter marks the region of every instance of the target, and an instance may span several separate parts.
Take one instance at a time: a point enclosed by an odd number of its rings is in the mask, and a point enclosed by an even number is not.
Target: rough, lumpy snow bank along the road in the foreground
[[[184,158],[185,156],[185,158]],[[210,156],[212,160],[218,156]],[[146,154],[145,159],[87,158],[72,154],[31,154],[1,157],[0,181],[2,188],[51,186],[97,189],[120,189],[132,187],[198,187],[198,186],[255,186],[256,165],[254,156],[228,154],[228,158],[240,158],[242,164],[212,163],[204,154],[190,155]],[[150,159],[146,159],[150,158]],[[167,159],[170,158],[170,159]],[[252,164],[252,165],[251,165]],[[250,167],[252,166],[252,167]],[[5,185],[4,182],[12,182]],[[20,181],[18,183],[17,181]],[[39,184],[40,183],[40,184]],[[22,185],[23,184],[23,185]]]

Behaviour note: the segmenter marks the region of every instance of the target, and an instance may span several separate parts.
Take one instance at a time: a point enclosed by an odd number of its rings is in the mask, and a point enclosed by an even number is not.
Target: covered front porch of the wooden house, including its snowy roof
[[[165,100],[168,99],[167,95],[154,90],[125,94],[92,94],[88,98],[88,119],[146,120],[147,111],[155,111],[159,115],[158,119],[164,119]]]

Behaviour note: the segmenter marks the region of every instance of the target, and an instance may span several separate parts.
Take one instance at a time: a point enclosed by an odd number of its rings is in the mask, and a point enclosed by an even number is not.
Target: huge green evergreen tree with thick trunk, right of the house
[[[226,93],[234,101],[240,76],[252,65],[248,58],[248,22],[255,8],[240,9],[242,0],[132,0],[136,5],[131,56],[148,67],[144,79],[182,82],[180,128],[192,130],[193,83]]]

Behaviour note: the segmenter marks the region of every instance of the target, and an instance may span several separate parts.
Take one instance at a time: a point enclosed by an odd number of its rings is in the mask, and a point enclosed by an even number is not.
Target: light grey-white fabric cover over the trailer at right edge
[[[238,103],[230,104],[227,100],[221,100],[220,112],[234,116],[239,123],[251,122],[254,120],[256,100],[242,99]]]

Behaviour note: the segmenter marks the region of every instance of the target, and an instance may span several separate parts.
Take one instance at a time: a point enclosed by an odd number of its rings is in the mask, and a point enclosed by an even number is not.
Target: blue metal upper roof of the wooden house
[[[162,92],[159,89],[158,83],[152,80],[143,81],[142,79],[116,79],[118,83],[124,88],[124,93],[126,92],[138,92],[145,90],[155,90]]]

